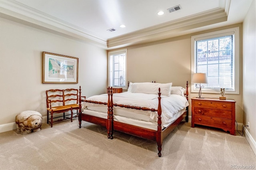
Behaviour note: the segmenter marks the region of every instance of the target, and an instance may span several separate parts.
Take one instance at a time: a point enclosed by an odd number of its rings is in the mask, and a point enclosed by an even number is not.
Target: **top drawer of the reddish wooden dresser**
[[[212,102],[212,101],[194,101],[194,107],[208,107],[213,109],[226,109],[231,110],[231,103],[221,103],[221,102]]]

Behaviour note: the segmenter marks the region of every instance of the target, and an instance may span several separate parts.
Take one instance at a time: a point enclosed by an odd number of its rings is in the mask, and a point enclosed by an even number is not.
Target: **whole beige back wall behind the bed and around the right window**
[[[197,97],[198,93],[190,93],[191,79],[191,36],[213,32],[227,28],[240,27],[240,94],[226,94],[227,99],[236,101],[236,121],[238,129],[242,127],[242,24],[234,24],[222,28],[197,32],[184,36],[169,38],[166,40],[133,45],[128,49],[128,81],[131,82],[152,82],[169,83],[173,86],[186,88],[186,81],[189,83],[189,103],[192,97]],[[113,50],[111,50],[113,51]],[[202,97],[219,97],[220,94],[203,93]],[[191,107],[189,108],[191,115]]]

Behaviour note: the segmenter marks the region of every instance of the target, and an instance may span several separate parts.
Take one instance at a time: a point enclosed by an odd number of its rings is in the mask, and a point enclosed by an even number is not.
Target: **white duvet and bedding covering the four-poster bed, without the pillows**
[[[188,101],[185,97],[180,95],[170,95],[161,96],[161,107],[162,107],[162,125],[170,122],[170,119],[174,117],[178,111],[186,108],[188,106]],[[108,102],[108,95],[96,95],[89,97],[86,100],[91,101],[100,101],[100,102]],[[114,93],[113,94],[113,103],[124,104],[124,105],[132,105],[132,106],[140,106],[140,107],[148,107],[148,108],[158,108],[158,95],[156,94],[145,94],[145,93]],[[93,111],[100,113],[107,113],[106,105],[99,105],[94,103],[83,102],[82,109],[85,109],[84,112]],[[114,115],[126,117],[128,119],[136,119],[138,121],[149,121],[149,122],[157,122],[157,112],[151,111],[141,111],[135,109],[126,109],[121,107],[113,108]]]

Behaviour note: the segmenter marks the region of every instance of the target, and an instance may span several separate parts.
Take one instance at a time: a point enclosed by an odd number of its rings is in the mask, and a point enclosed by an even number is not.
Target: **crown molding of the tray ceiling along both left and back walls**
[[[34,8],[14,0],[0,0],[0,17],[78,41],[94,43],[104,49],[113,49],[171,38],[195,28],[227,21],[229,7],[230,0],[219,0],[219,8],[110,39],[102,38],[88,30],[34,10]]]

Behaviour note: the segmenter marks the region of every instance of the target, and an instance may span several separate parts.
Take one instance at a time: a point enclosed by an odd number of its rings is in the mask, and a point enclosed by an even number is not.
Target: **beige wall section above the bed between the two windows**
[[[190,80],[190,35],[128,47],[128,81],[186,86]]]

